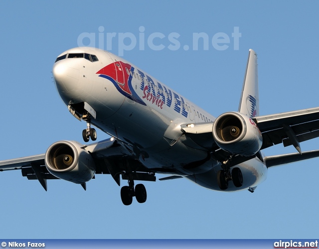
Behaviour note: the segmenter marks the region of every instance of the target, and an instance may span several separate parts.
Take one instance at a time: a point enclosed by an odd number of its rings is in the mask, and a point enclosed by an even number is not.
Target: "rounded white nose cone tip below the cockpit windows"
[[[72,91],[78,86],[80,77],[78,68],[78,65],[70,65],[67,61],[58,61],[54,64],[52,73],[59,93]]]

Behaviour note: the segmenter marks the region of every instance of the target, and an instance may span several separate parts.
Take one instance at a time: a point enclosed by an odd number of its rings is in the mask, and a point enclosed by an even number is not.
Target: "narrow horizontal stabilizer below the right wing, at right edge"
[[[298,162],[315,157],[319,157],[319,150],[305,151],[303,152],[303,154],[291,153],[284,155],[266,156],[264,157],[264,162],[267,168],[269,168],[273,166],[279,166],[281,164]]]

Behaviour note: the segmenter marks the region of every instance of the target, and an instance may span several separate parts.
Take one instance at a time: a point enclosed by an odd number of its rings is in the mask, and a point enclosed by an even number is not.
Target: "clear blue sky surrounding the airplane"
[[[248,50],[258,54],[261,115],[319,106],[317,1],[0,1],[0,160],[41,154],[55,141],[82,142],[85,123],[62,103],[52,66],[63,51],[94,33],[137,38],[123,57],[217,117],[237,111]],[[104,31],[99,31],[99,27]],[[145,29],[140,31],[140,27]],[[239,47],[232,32],[239,28]],[[140,33],[164,48],[145,45]],[[192,47],[193,33],[209,37]],[[179,34],[171,50],[170,33]],[[216,49],[217,33],[229,37]],[[92,40],[91,40],[92,41]],[[83,39],[89,44],[88,38]],[[129,41],[126,40],[129,44]],[[189,49],[185,50],[184,45]],[[98,138],[107,135],[98,131]],[[319,149],[319,139],[302,150]],[[267,155],[295,152],[277,145]],[[48,182],[45,192],[20,171],[0,172],[3,239],[290,239],[318,237],[319,159],[272,168],[255,193],[221,193],[185,179],[146,182],[148,201],[124,206],[109,175],[81,186]],[[158,175],[158,178],[160,175]]]

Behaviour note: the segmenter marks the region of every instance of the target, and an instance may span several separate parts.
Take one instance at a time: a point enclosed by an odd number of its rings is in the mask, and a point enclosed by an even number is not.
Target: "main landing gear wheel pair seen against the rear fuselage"
[[[229,167],[225,167],[217,172],[217,183],[221,190],[226,190],[228,188],[229,181],[233,181],[237,188],[243,186],[243,174],[240,168],[233,168],[231,174]]]

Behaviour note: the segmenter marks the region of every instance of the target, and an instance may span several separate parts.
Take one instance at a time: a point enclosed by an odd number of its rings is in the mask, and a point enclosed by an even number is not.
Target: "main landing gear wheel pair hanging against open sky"
[[[147,193],[143,184],[137,184],[134,189],[134,180],[129,180],[129,186],[123,186],[121,188],[121,199],[124,205],[129,206],[133,202],[133,196],[139,203],[146,202]]]

